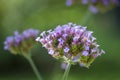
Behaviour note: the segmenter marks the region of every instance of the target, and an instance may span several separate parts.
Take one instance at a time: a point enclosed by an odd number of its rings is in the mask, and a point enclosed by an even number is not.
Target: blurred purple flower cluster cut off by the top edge
[[[66,5],[71,6],[77,0],[66,0]],[[89,10],[93,13],[105,12],[114,6],[120,5],[120,0],[80,0],[83,5],[89,5]]]

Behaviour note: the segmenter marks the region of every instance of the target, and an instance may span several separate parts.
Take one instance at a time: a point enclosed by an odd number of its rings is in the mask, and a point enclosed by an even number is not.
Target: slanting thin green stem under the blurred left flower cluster
[[[24,54],[24,57],[25,57],[25,58],[28,60],[28,62],[30,63],[30,65],[31,65],[31,67],[32,67],[32,69],[33,69],[36,77],[38,78],[38,80],[42,80],[42,77],[41,77],[40,73],[38,72],[38,70],[37,70],[37,68],[36,68],[36,66],[35,66],[35,64],[34,64],[32,58],[31,58],[31,55],[26,55],[26,54]]]

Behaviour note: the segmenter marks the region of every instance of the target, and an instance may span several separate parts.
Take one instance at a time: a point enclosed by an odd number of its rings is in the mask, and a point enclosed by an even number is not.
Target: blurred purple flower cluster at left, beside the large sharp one
[[[39,31],[28,29],[19,34],[14,32],[14,36],[8,36],[4,42],[4,49],[11,51],[13,54],[28,53],[29,49],[34,45],[35,39]]]

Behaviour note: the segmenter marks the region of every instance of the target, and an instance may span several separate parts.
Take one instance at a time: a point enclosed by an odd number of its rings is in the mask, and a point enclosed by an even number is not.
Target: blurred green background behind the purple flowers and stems
[[[65,0],[0,0],[0,80],[37,80],[27,60],[4,51],[3,42],[13,31],[34,28],[40,31],[73,22],[94,31],[106,54],[97,58],[90,69],[72,66],[68,80],[120,80],[120,8],[93,15],[82,23],[87,6],[67,7]],[[44,80],[60,80],[60,61],[36,44],[33,60]]]

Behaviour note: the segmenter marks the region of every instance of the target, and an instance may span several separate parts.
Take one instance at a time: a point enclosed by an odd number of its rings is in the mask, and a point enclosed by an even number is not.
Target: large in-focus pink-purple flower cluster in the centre
[[[99,51],[99,45],[92,36],[92,31],[86,27],[68,23],[57,26],[54,30],[43,31],[36,39],[54,58],[62,59],[65,63],[80,63],[85,67],[104,53]]]

